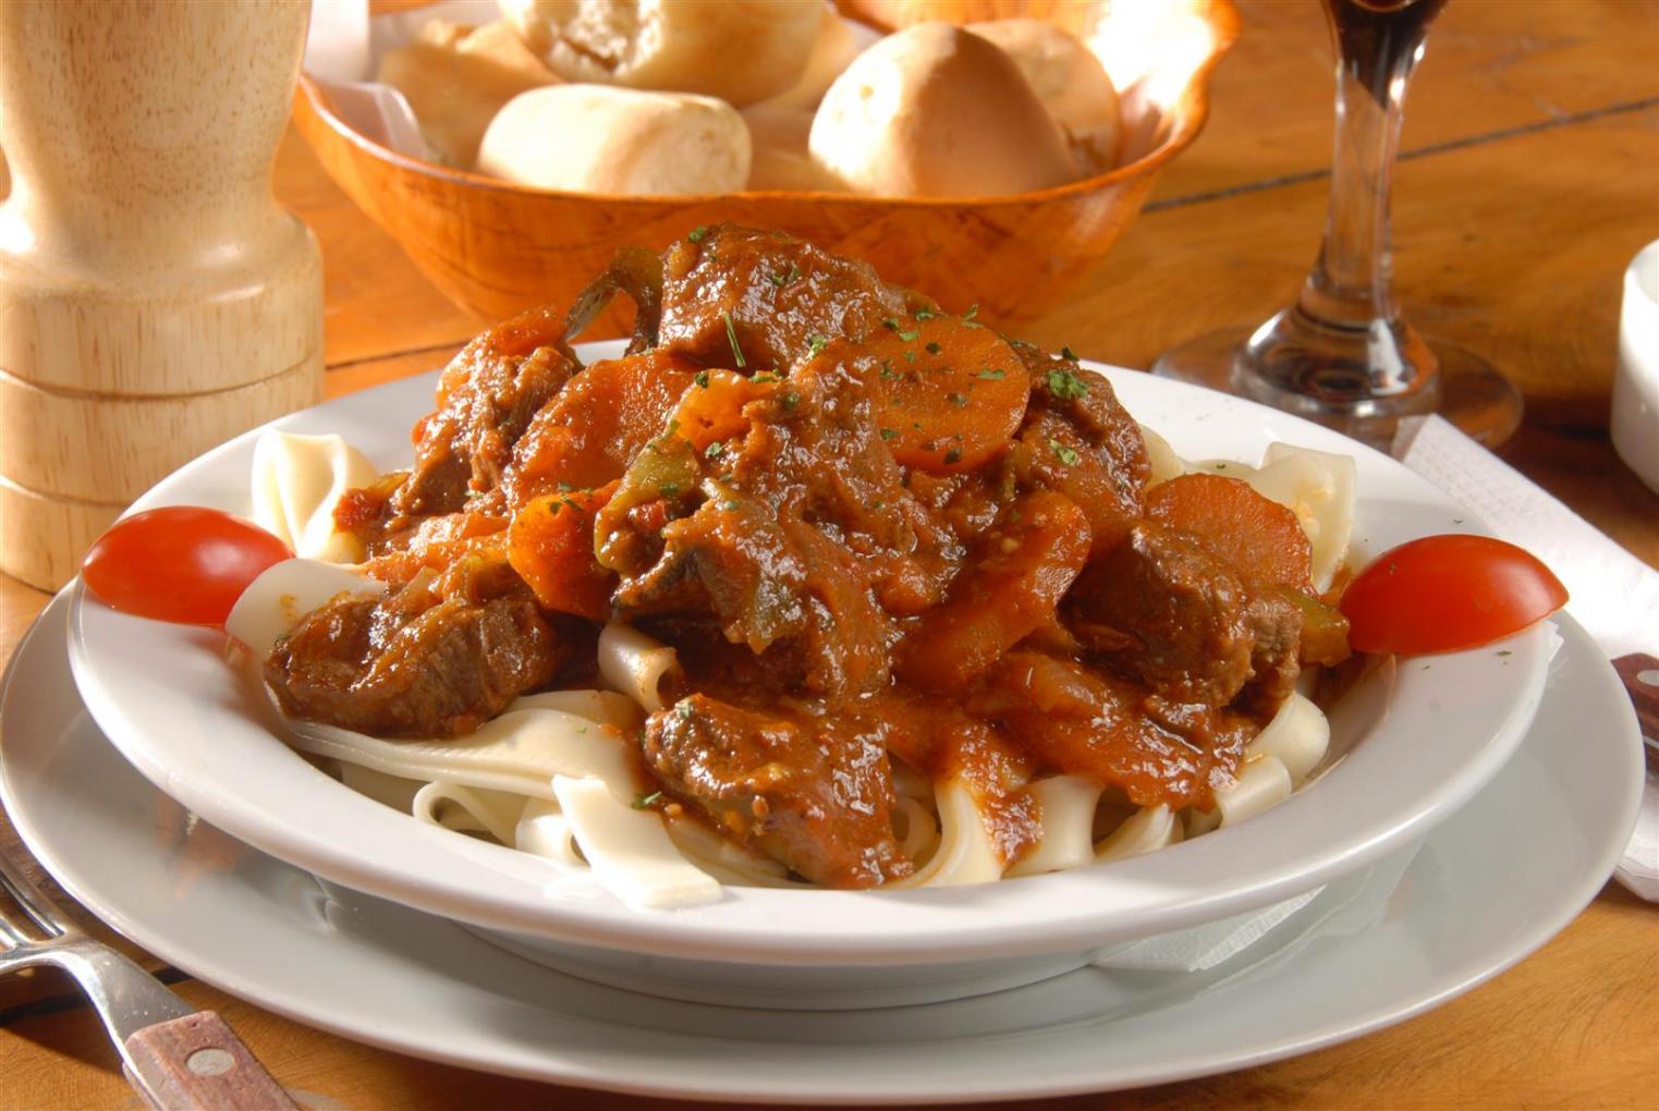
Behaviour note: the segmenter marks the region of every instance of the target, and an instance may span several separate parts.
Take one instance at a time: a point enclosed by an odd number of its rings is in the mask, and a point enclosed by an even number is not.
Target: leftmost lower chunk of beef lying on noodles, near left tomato
[[[523,584],[519,584],[523,585]],[[523,592],[342,595],[265,660],[284,713],[372,736],[460,736],[552,680],[559,638]]]

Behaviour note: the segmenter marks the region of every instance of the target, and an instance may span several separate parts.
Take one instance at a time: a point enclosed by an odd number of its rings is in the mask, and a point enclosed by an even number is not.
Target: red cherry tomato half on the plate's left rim
[[[168,506],[116,521],[81,562],[86,587],[123,614],[222,625],[287,544],[217,509]]]

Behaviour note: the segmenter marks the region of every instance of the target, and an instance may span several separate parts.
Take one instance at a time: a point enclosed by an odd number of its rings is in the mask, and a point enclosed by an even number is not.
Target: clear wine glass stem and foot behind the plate
[[[1400,418],[1440,411],[1485,444],[1521,396],[1478,355],[1428,343],[1394,303],[1389,191],[1405,85],[1447,0],[1322,0],[1337,53],[1335,153],[1319,260],[1296,303],[1256,328],[1165,352],[1155,375],[1238,393],[1387,449]]]

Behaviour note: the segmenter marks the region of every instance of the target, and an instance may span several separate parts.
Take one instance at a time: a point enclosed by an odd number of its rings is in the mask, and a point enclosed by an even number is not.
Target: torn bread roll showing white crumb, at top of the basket
[[[818,35],[811,0],[499,0],[569,81],[752,104],[795,85]]]

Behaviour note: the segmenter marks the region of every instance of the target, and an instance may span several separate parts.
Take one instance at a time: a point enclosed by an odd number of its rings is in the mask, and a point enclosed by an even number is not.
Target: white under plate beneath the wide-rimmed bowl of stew
[[[1571,620],[1516,756],[1428,834],[1374,920],[1327,924],[1239,970],[1083,968],[874,1012],[677,1003],[542,968],[460,925],[211,829],[100,736],[46,610],[0,691],[0,798],[88,909],[192,975],[340,1035],[471,1068],[703,1099],[962,1103],[1165,1083],[1400,1021],[1543,945],[1636,817],[1641,746]],[[1389,877],[1392,882],[1392,877]]]

